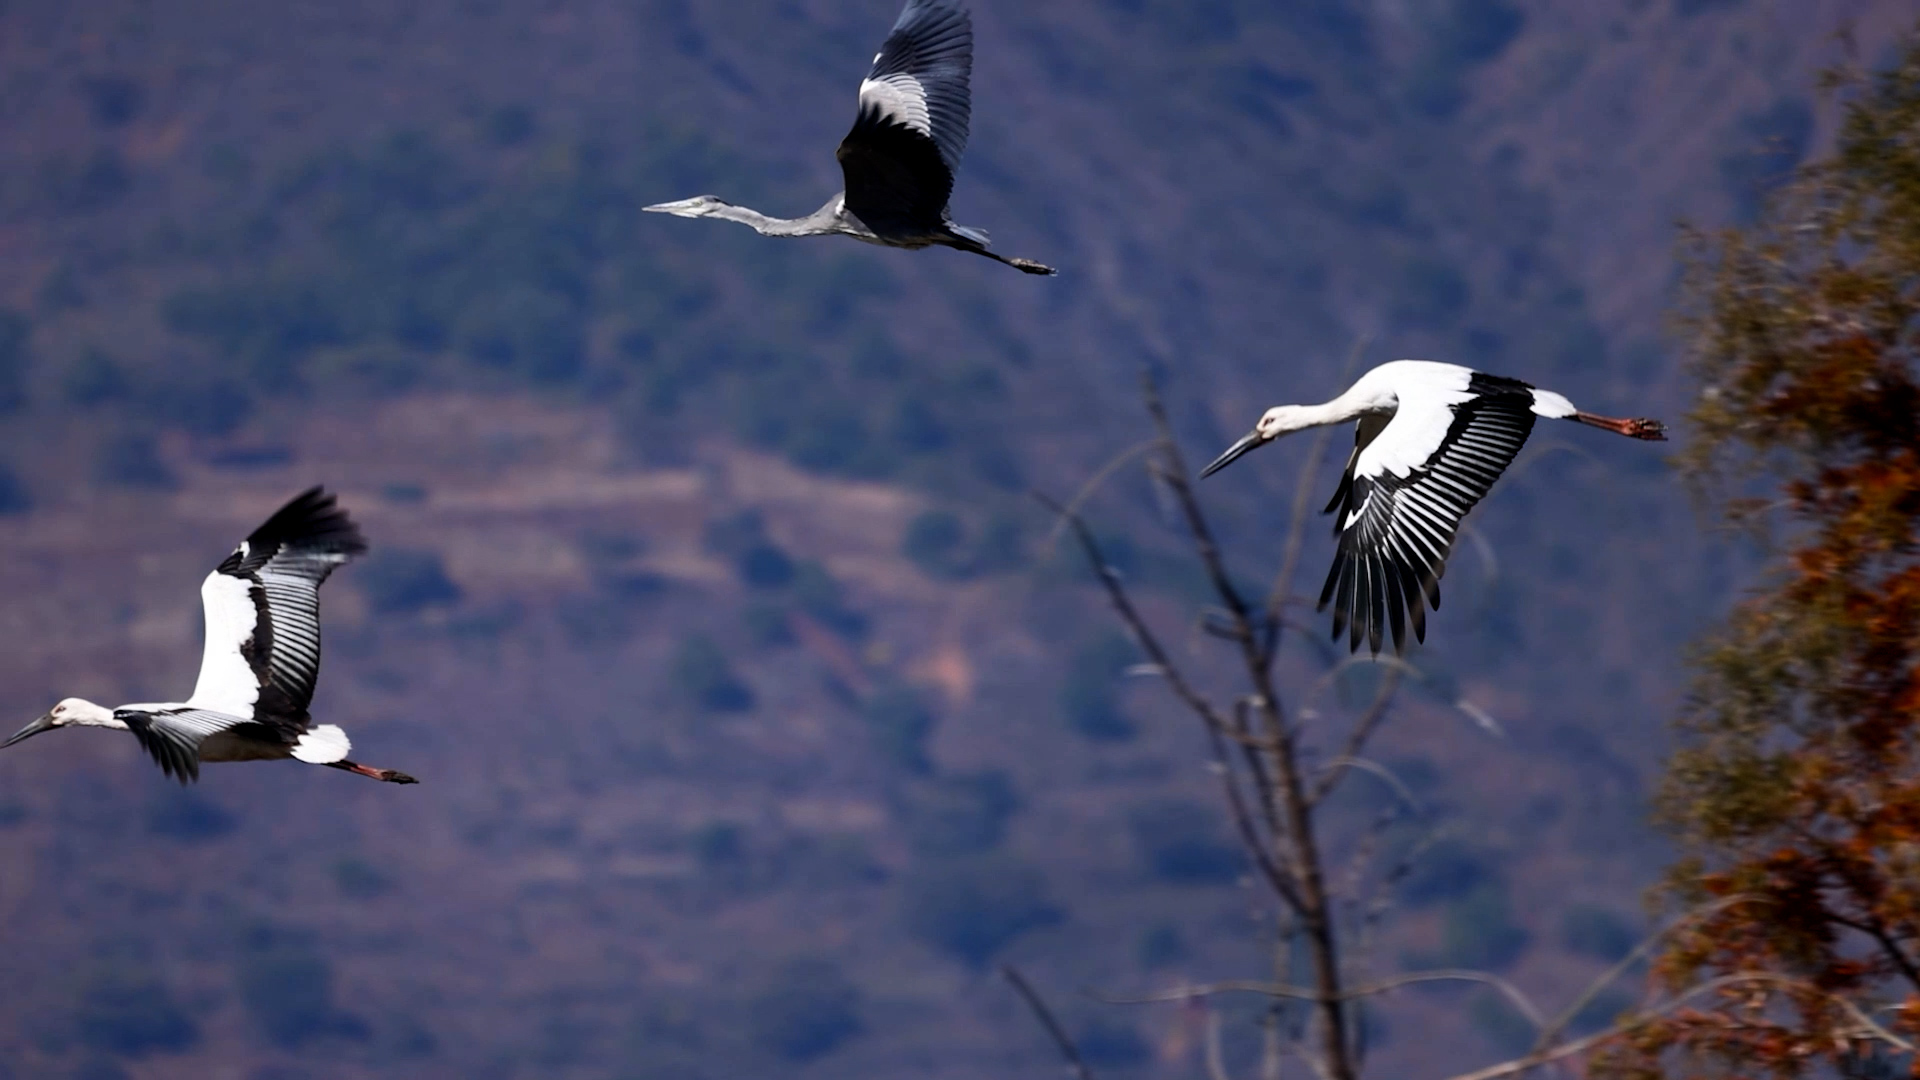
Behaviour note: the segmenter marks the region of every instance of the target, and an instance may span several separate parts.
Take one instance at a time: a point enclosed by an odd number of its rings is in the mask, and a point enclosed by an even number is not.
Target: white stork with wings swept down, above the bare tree
[[[1667,438],[1667,425],[1582,413],[1572,402],[1519,379],[1453,363],[1396,359],[1323,405],[1275,405],[1254,430],[1200,471],[1210,477],[1275,438],[1346,421],[1354,454],[1327,513],[1338,513],[1340,550],[1319,609],[1332,603],[1332,636],[1373,653],[1392,626],[1405,650],[1405,623],[1427,640],[1427,609],[1440,609],[1440,575],[1459,519],[1480,502],[1534,430],[1534,417],[1597,427],[1628,438]]]

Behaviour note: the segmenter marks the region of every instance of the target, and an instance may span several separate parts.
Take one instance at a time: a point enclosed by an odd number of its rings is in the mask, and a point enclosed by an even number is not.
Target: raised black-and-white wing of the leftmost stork
[[[255,528],[200,586],[207,642],[186,703],[305,730],[321,673],[321,582],[365,550],[321,488]]]

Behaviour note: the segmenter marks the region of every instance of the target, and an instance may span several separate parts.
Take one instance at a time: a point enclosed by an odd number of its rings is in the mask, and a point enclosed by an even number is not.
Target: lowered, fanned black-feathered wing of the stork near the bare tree
[[[1367,469],[1361,448],[1356,448],[1342,492],[1334,496],[1340,509],[1340,552],[1319,600],[1323,611],[1332,603],[1336,640],[1348,634],[1354,651],[1365,640],[1379,653],[1380,640],[1392,626],[1394,648],[1404,650],[1409,619],[1413,638],[1427,640],[1425,605],[1440,609],[1440,577],[1446,573],[1459,519],[1486,496],[1526,444],[1534,430],[1532,405],[1534,398],[1524,382],[1482,392],[1457,405],[1440,405],[1452,407],[1446,438],[1425,465],[1404,477]],[[1396,436],[1419,438],[1415,429],[1432,423],[1432,407],[1402,402],[1394,419],[1373,440],[1363,440],[1363,446],[1373,442],[1390,450]]]

